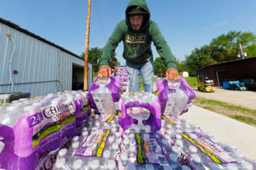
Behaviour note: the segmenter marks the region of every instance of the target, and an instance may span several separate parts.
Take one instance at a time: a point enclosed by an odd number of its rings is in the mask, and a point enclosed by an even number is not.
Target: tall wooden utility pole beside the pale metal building
[[[91,0],[88,0],[87,25],[86,25],[86,36],[85,36],[84,90],[88,90],[88,49],[89,49],[89,36],[90,36],[90,21],[91,21]]]

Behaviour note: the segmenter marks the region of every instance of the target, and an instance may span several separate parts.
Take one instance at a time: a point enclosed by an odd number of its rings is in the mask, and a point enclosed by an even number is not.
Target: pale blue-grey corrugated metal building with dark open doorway
[[[83,89],[85,61],[53,42],[0,18],[0,93],[30,97]],[[88,87],[92,63],[88,63]]]

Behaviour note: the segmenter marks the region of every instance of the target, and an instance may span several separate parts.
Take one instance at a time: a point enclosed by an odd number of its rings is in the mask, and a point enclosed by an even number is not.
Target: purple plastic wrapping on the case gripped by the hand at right
[[[157,88],[159,90],[157,97],[161,104],[161,113],[164,113],[164,109],[168,101],[168,94],[175,93],[176,90],[168,88],[168,80],[157,80]],[[192,100],[195,98],[195,93],[189,87],[189,84],[186,82],[186,80],[182,77],[180,77],[180,87],[178,88],[184,91],[185,94],[189,97],[189,101],[187,104],[191,104]],[[184,114],[187,111],[188,111],[188,108],[185,108],[185,110],[183,110],[180,115]]]

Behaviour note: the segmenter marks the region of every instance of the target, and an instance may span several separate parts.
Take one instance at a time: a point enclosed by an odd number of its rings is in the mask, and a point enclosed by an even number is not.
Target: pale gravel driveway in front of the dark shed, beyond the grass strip
[[[256,110],[256,91],[226,90],[220,87],[216,87],[216,90],[213,93],[204,93],[195,88],[193,91],[195,92],[196,97],[219,100],[228,104]]]

